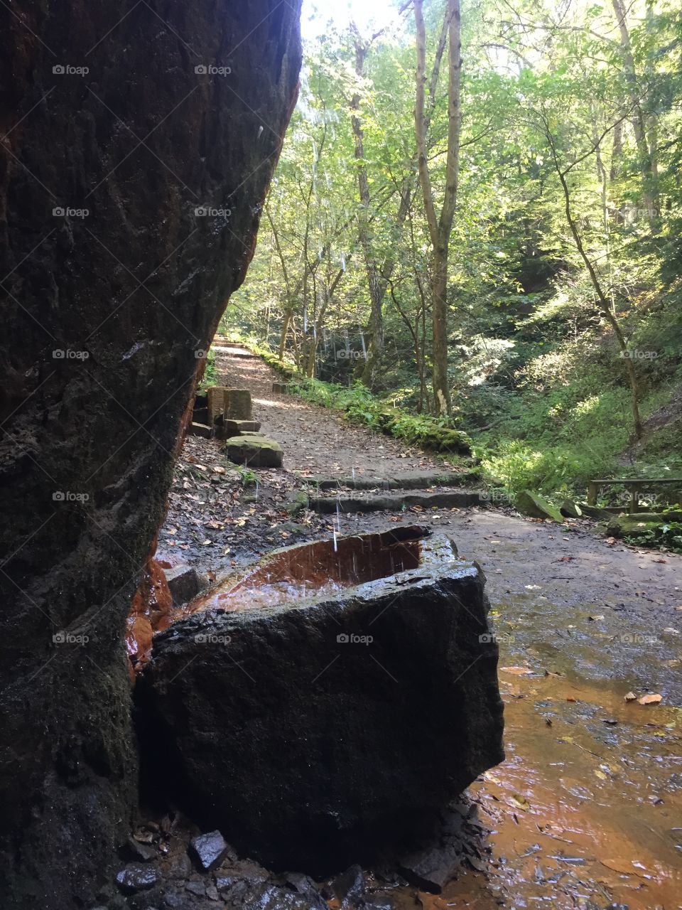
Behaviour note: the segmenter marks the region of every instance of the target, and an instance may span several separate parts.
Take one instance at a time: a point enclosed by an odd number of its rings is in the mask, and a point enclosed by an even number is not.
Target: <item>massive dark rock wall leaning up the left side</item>
[[[3,908],[102,903],[125,841],[126,616],[296,99],[300,2],[126,8],[0,5]]]

